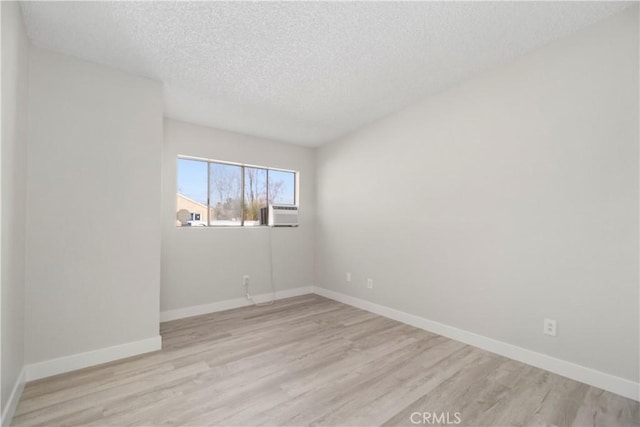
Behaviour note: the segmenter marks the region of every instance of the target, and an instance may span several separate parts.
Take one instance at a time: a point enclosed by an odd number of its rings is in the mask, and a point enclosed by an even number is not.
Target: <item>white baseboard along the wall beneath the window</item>
[[[313,286],[305,286],[301,288],[285,289],[276,291],[275,299],[291,298],[300,295],[312,294]],[[184,319],[185,317],[199,316],[201,314],[215,313],[217,311],[231,310],[232,308],[246,307],[255,303],[263,303],[271,301],[272,293],[252,295],[253,300],[245,297],[234,298],[224,301],[212,302],[210,304],[193,305],[191,307],[176,308],[160,312],[160,321],[167,322],[169,320]]]

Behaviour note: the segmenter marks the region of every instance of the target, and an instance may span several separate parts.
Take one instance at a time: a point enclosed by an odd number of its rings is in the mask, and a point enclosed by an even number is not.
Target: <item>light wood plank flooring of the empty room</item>
[[[27,384],[13,425],[640,425],[638,402],[317,295],[161,333]]]

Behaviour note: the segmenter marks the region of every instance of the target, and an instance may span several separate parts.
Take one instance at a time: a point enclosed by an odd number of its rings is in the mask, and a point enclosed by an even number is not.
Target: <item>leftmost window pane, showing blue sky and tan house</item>
[[[176,225],[207,225],[207,162],[178,159]]]

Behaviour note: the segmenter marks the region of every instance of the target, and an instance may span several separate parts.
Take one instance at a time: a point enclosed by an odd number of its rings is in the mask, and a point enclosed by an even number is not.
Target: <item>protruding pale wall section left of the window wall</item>
[[[33,48],[26,356],[158,336],[162,87]]]

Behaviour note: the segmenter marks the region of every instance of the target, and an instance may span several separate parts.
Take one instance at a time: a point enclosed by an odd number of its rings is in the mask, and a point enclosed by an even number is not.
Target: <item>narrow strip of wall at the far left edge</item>
[[[5,413],[24,366],[29,41],[17,2],[2,2],[2,390]]]

